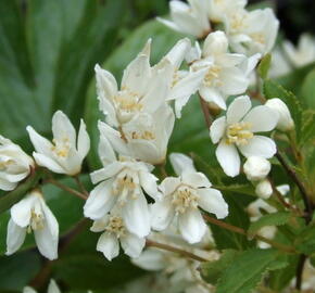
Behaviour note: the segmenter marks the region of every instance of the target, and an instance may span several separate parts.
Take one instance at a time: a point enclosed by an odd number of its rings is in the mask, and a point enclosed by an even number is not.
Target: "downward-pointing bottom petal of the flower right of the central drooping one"
[[[182,238],[191,244],[200,242],[206,231],[206,225],[197,208],[179,214],[178,226]]]

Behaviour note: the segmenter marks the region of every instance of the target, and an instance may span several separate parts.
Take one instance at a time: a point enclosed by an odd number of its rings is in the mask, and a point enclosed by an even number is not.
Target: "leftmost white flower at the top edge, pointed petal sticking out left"
[[[211,30],[209,21],[209,0],[178,0],[169,2],[172,21],[158,20],[174,30],[203,38]]]

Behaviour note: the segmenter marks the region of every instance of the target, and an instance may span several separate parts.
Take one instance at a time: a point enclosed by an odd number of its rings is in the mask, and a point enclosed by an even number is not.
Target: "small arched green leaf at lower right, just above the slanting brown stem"
[[[254,235],[261,228],[265,226],[281,226],[286,225],[291,218],[291,214],[288,212],[278,212],[262,216],[256,221],[252,222],[248,233]]]

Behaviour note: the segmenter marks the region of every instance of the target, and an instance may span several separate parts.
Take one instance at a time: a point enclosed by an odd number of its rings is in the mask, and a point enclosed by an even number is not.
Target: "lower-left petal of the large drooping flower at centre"
[[[84,206],[84,214],[91,219],[100,219],[109,213],[117,201],[112,193],[113,180],[99,183],[91,192]]]

